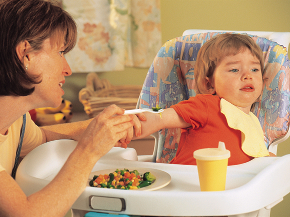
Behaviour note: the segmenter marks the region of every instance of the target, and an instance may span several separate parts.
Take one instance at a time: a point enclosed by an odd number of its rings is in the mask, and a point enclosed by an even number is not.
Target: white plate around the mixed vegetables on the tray
[[[109,174],[109,173],[114,172],[116,169],[119,169],[119,170],[128,169],[129,171],[137,170],[139,172],[139,174],[144,174],[146,172],[150,172],[151,174],[153,174],[156,177],[156,180],[151,185],[136,189],[134,191],[154,191],[154,190],[161,189],[161,188],[165,187],[171,181],[171,176],[162,170],[156,170],[156,169],[152,169],[152,168],[114,168],[114,169],[106,169],[106,170],[92,172],[89,175],[88,183],[90,180],[92,180],[94,175],[98,176],[100,174],[102,174],[102,175]],[[87,186],[89,186],[89,184],[87,184]],[[92,187],[92,188],[95,188],[95,187]]]

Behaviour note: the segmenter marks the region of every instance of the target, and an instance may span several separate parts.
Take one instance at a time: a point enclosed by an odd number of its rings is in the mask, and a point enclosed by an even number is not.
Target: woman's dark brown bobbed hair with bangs
[[[40,50],[50,37],[64,40],[64,53],[76,42],[73,18],[52,0],[0,0],[0,95],[27,96],[41,77],[27,74],[16,54],[16,46],[27,40],[31,49]]]

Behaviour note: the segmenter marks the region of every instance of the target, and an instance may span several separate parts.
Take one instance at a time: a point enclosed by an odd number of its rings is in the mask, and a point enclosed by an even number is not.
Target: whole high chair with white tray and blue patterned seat
[[[194,96],[193,72],[197,51],[206,40],[219,33],[194,32],[167,41],[148,71],[138,107],[158,105],[168,108]],[[290,33],[286,35],[289,39]],[[264,130],[265,145],[275,153],[276,144],[288,137],[289,59],[286,49],[276,42],[256,36],[252,38],[265,53],[265,76],[268,78],[252,111]],[[164,181],[167,177],[164,186],[154,191],[87,186],[71,207],[72,216],[83,217],[88,212],[99,212],[129,216],[268,217],[270,208],[290,193],[290,155],[255,158],[244,164],[228,166],[225,191],[200,192],[196,166],[166,164],[176,152],[178,129],[164,129],[153,136],[156,142],[152,156],[137,156],[132,148],[112,148],[95,164],[91,175],[112,168],[159,170],[170,177],[162,175],[156,179],[156,182]],[[16,182],[23,192],[28,196],[46,186],[76,144],[72,140],[56,140],[31,151],[21,161],[16,173]],[[155,184],[152,185],[158,186]]]

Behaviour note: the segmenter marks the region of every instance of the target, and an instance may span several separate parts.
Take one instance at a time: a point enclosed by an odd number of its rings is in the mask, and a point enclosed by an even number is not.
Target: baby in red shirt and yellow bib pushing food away
[[[163,128],[181,128],[176,156],[170,163],[196,165],[193,152],[224,142],[228,165],[269,156],[257,117],[250,112],[263,85],[263,53],[247,35],[220,34],[201,46],[194,66],[195,97],[144,113],[140,139]]]

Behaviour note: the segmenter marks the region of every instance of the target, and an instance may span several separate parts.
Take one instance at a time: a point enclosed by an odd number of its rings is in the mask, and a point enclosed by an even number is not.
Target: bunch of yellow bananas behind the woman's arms
[[[36,117],[34,122],[38,126],[66,123],[72,117],[71,109],[71,102],[65,99],[62,99],[60,106],[57,108],[36,108]]]

